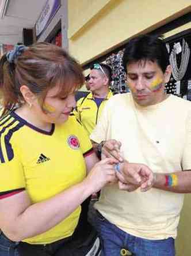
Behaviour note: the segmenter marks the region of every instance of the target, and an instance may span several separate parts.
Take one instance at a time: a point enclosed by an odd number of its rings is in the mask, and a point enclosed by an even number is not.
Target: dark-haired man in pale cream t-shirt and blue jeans
[[[123,62],[131,93],[108,100],[90,136],[97,144],[110,140],[105,154],[124,157],[126,171],[117,176],[132,191],[117,185],[101,191],[95,208],[104,255],[174,256],[184,193],[191,192],[191,103],[165,93],[171,66],[162,39],[135,37],[127,43]],[[121,143],[120,154],[112,140]],[[152,189],[143,193],[131,182],[128,161],[154,172]]]

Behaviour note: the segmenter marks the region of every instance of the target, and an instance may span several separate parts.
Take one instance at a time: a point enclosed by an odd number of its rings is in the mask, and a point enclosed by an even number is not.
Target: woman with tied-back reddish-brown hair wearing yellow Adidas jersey
[[[0,61],[0,255],[100,255],[81,204],[115,180],[70,116],[81,66],[48,43],[16,46]],[[92,243],[93,241],[93,243]]]

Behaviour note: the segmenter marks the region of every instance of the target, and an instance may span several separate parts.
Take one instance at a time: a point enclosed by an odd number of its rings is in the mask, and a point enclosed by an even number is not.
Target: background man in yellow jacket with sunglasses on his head
[[[87,76],[90,93],[77,102],[77,111],[74,112],[87,133],[90,135],[96,126],[106,101],[113,95],[109,89],[112,80],[112,69],[103,63],[95,63],[90,67]]]

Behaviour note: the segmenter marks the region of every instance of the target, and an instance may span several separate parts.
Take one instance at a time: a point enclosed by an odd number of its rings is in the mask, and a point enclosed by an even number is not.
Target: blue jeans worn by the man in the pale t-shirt
[[[103,243],[102,256],[174,256],[174,239],[148,240],[124,232],[106,220],[98,211],[97,231]],[[125,250],[132,254],[125,254]]]

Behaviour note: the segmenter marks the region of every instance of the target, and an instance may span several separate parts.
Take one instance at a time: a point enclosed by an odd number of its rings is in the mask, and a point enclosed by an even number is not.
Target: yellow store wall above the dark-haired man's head
[[[69,50],[81,63],[191,10],[190,0],[70,0]]]

